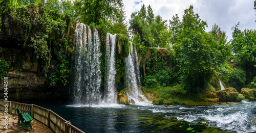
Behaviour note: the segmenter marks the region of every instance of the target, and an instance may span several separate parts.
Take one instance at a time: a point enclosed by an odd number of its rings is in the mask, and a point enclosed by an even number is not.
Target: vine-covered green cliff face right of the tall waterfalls
[[[139,54],[142,86],[156,88],[158,85],[165,87],[178,82],[178,75],[174,75],[178,67],[175,67],[173,51],[142,45],[136,48]]]

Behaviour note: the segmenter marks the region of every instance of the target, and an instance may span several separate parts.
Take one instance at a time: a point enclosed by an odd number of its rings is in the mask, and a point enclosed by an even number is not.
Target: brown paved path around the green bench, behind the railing
[[[8,116],[8,129],[5,127],[5,116],[4,112],[0,112],[0,132],[2,133],[18,133],[20,132],[20,128],[22,126],[17,124],[18,122],[18,116],[17,115],[7,115]],[[48,128],[46,125],[38,122],[37,120],[32,120],[31,125],[33,127],[33,130],[25,129],[24,133],[32,133],[32,132],[38,132],[38,133],[52,133],[51,129]]]

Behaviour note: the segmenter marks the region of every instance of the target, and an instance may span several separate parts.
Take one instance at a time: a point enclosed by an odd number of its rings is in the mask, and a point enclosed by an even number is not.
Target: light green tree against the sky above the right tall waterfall
[[[132,13],[129,30],[134,34],[133,41],[151,47],[167,47],[170,32],[166,20],[160,15],[155,17],[151,6],[142,5],[138,13]]]

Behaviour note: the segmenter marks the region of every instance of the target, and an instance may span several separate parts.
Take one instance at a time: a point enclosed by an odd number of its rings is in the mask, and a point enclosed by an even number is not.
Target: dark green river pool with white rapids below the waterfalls
[[[202,132],[208,126],[231,132],[256,131],[256,102],[212,106],[101,104],[92,106],[94,112],[82,104],[32,102],[85,132]]]

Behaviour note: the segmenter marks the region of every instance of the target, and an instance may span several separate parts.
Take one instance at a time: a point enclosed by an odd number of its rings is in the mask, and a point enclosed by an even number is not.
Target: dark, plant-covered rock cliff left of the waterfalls
[[[35,4],[0,17],[0,60],[10,68],[4,74],[8,99],[67,97],[74,21]]]

